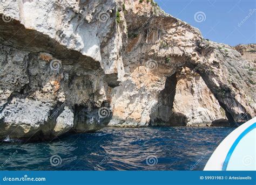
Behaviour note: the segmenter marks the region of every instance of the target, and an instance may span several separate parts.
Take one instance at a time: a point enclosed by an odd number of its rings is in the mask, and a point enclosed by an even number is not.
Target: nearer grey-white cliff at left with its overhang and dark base
[[[102,9],[82,13],[96,6]],[[118,58],[111,52],[119,47],[118,32],[110,12],[108,22],[98,18],[114,7],[100,1],[1,2],[0,139],[52,139],[109,123],[106,92],[117,77],[105,80],[104,74],[117,76],[117,67],[102,58]],[[106,117],[98,113],[102,108]]]

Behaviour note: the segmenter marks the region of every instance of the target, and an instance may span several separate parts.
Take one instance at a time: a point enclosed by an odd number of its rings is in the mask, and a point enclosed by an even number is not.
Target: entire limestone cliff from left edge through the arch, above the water
[[[0,16],[0,139],[255,115],[252,62],[153,1],[7,0]]]

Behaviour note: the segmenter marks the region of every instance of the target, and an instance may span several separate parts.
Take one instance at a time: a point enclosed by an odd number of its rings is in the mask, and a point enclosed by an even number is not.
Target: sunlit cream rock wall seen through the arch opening
[[[227,122],[225,110],[198,73],[183,68],[177,75],[177,81],[173,112],[185,115],[187,126],[211,125],[220,119]]]

